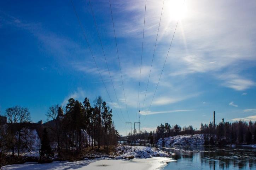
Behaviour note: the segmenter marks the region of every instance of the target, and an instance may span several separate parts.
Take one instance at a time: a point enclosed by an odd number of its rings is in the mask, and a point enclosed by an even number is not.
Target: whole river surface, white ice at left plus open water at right
[[[4,169],[77,169],[77,170],[173,170],[173,169],[256,169],[256,149],[253,147],[169,147],[171,158],[95,159],[49,164],[25,163],[8,165]]]

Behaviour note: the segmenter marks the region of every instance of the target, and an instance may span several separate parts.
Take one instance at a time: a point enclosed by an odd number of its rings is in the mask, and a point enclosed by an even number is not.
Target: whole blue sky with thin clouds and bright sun
[[[139,102],[149,77],[162,1],[147,0]],[[109,1],[91,1],[116,89],[107,71],[88,0],[74,0],[112,103],[93,62],[70,1],[0,2],[0,111],[20,105],[33,121],[69,97],[93,102],[101,95],[123,122],[138,121],[138,86],[145,1],[113,1],[112,11],[124,80],[123,95]],[[182,127],[222,118],[256,120],[256,2],[165,0],[141,127],[169,122]],[[149,110],[177,20],[167,63]],[[116,112],[117,111],[117,112]],[[147,117],[145,116],[147,114]],[[119,115],[120,119],[118,118]],[[146,117],[146,119],[145,119]]]

